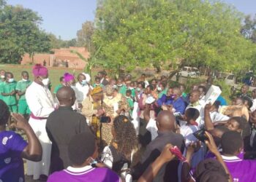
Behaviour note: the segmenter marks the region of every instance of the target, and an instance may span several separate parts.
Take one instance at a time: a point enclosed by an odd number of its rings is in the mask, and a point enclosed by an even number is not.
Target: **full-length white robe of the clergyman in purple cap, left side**
[[[54,111],[54,101],[48,87],[33,82],[26,90],[26,101],[31,110],[29,124],[34,130],[42,145],[42,161],[31,162],[27,160],[27,175],[33,175],[34,180],[40,175],[48,175],[50,168],[51,142],[45,130],[46,120]]]

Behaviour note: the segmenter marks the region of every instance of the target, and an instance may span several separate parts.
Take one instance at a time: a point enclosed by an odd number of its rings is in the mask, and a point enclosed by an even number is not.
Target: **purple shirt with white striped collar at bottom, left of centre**
[[[116,173],[105,167],[67,167],[49,176],[48,182],[121,182]]]

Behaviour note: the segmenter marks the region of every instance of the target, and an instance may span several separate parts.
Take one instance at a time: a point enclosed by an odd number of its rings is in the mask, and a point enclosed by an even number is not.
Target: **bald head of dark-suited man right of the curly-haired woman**
[[[160,111],[157,115],[157,127],[159,131],[174,131],[175,116],[170,111]]]

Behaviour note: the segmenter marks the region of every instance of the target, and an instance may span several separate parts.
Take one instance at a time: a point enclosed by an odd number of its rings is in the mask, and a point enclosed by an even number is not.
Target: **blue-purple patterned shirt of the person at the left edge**
[[[27,145],[15,132],[0,132],[0,181],[25,181],[21,153]]]

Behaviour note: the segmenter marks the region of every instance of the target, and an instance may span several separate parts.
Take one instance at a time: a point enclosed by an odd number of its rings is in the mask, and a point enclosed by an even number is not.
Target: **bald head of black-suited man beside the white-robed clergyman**
[[[61,105],[73,106],[75,103],[75,91],[71,87],[61,87],[56,96]]]

